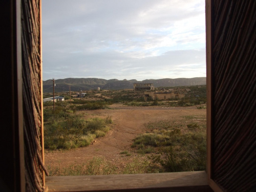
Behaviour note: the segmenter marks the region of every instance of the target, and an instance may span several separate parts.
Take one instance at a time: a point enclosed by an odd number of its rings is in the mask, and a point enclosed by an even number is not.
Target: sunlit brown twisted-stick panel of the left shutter
[[[40,1],[22,1],[22,72],[26,191],[44,191]]]

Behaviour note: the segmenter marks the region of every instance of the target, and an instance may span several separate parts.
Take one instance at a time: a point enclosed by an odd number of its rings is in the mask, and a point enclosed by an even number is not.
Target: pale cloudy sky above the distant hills
[[[205,0],[42,0],[42,77],[206,77]]]

